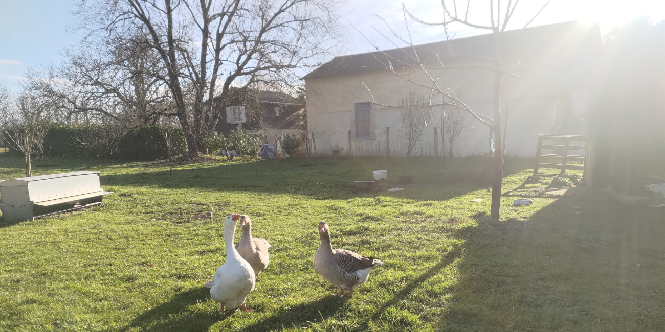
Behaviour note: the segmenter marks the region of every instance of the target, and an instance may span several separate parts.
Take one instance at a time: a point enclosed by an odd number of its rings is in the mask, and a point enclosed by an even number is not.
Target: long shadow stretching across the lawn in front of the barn
[[[251,193],[284,193],[313,199],[352,199],[390,195],[419,201],[444,201],[471,191],[489,188],[491,169],[485,159],[287,159],[250,163],[216,163],[203,167],[103,175],[102,185],[165,189],[209,189]],[[445,163],[452,165],[444,166]],[[512,171],[524,169],[512,161]],[[386,183],[396,183],[399,174],[414,175],[413,185],[392,193],[355,193],[354,181],[370,180],[372,169],[388,169]],[[507,171],[508,173],[509,171]],[[385,186],[384,186],[385,187]]]

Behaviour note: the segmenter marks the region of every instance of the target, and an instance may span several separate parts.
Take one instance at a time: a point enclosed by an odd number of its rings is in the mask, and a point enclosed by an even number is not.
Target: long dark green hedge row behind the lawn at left
[[[109,125],[53,125],[44,141],[49,157],[155,160],[168,158],[159,125],[118,132]],[[110,137],[116,137],[112,139]],[[173,130],[176,155],[187,150],[181,128]]]

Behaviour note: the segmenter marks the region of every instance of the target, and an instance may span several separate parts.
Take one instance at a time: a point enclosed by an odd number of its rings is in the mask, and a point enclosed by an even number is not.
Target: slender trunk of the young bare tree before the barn
[[[501,146],[501,41],[500,34],[494,35],[494,171],[492,175],[492,203],[489,220],[499,221],[501,209],[501,181],[503,180],[503,153]]]

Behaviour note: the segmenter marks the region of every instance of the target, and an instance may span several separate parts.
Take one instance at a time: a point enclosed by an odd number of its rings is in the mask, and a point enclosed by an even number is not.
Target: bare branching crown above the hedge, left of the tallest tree
[[[134,39],[84,40],[66,50],[61,66],[29,69],[22,85],[51,100],[57,122],[84,115],[87,123],[138,126],[174,115],[166,112],[171,99],[156,79],[162,70],[158,54]]]

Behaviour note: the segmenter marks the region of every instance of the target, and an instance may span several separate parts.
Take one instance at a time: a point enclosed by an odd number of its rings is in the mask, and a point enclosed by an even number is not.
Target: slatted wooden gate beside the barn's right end
[[[553,141],[543,144],[543,141]],[[583,142],[584,145],[571,145],[571,142]],[[541,153],[542,149],[551,149],[552,153]],[[584,149],[583,155],[568,155],[570,150]],[[538,147],[536,150],[536,165],[533,167],[533,175],[564,175],[566,169],[579,169],[585,171],[585,165],[568,165],[568,161],[580,161],[585,163],[587,153],[587,136],[575,135],[538,135]],[[546,159],[547,163],[541,162]],[[561,161],[560,164],[553,163]],[[540,168],[560,169],[559,174],[539,173]]]

